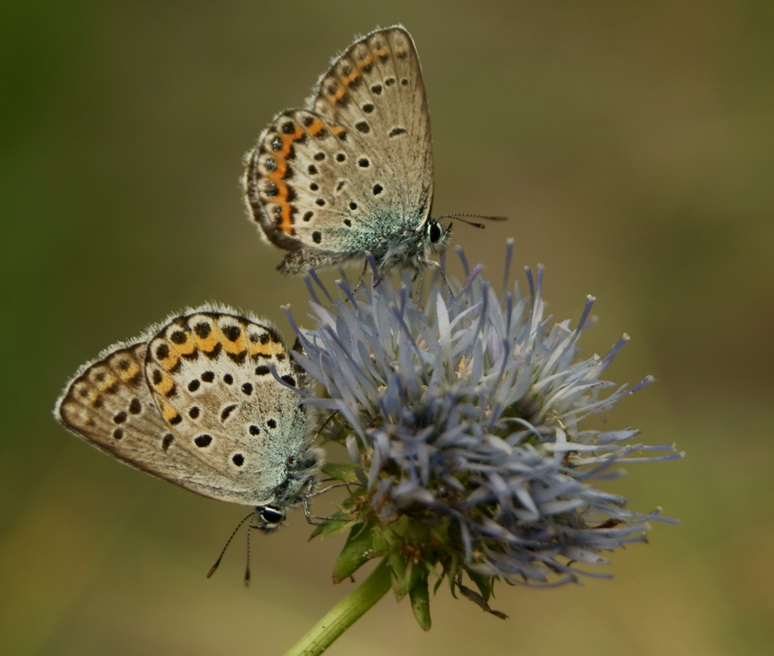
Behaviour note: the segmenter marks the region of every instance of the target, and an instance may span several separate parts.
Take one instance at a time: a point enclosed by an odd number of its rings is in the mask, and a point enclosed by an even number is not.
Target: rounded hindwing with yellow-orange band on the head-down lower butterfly
[[[232,503],[274,501],[303,448],[306,418],[272,368],[296,384],[276,332],[237,315],[179,317],[150,341],[146,376],[174,431],[168,450],[196,463],[181,485]]]

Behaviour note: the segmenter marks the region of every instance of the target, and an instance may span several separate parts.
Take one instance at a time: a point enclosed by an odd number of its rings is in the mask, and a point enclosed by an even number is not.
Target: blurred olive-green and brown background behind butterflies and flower
[[[546,265],[584,353],[657,385],[610,417],[683,461],[609,489],[679,526],[612,581],[499,589],[501,621],[441,589],[433,629],[382,600],[331,653],[768,654],[774,640],[774,5],[20,2],[0,8],[0,652],[276,654],[351,584],[300,513],[204,574],[243,509],[123,467],[51,417],[103,347],[219,300],[305,315],[244,218],[240,160],[355,34],[404,23],[433,121],[435,214],[510,220],[457,243],[499,280]],[[520,274],[521,275],[521,274]],[[316,509],[325,512],[329,500]]]

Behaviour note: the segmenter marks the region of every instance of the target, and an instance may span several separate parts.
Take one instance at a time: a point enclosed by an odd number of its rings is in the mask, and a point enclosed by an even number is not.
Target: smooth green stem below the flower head
[[[284,656],[317,656],[333,644],[344,631],[379,601],[390,589],[390,570],[386,559],[371,575],[331,608],[307,634],[288,649]]]

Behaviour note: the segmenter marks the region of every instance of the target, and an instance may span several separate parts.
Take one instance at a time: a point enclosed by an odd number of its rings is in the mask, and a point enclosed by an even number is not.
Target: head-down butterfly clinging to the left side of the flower
[[[274,328],[204,305],[83,365],[55,415],[129,465],[256,506],[260,526],[274,528],[304,501],[322,463],[291,389],[307,386]]]

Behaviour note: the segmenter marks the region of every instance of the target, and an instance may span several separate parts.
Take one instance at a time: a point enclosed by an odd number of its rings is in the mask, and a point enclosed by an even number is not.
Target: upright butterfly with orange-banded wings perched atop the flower
[[[422,70],[400,26],[334,59],[305,109],[277,115],[246,157],[245,194],[265,237],[304,273],[362,258],[419,269],[449,229],[430,217],[433,153]]]

